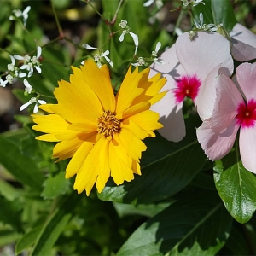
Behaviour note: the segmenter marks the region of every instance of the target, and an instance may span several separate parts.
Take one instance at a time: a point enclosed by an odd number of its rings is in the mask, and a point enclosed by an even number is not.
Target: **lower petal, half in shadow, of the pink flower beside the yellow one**
[[[164,125],[159,131],[168,141],[179,142],[186,135],[183,119],[183,102],[176,104],[172,90],[166,93],[160,102],[156,102],[150,109],[160,113],[159,122]]]

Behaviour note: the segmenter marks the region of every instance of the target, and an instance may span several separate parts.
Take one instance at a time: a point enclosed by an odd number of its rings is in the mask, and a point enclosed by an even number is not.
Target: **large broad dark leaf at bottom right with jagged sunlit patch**
[[[215,192],[193,192],[142,224],[117,256],[216,255],[230,233],[232,218]]]

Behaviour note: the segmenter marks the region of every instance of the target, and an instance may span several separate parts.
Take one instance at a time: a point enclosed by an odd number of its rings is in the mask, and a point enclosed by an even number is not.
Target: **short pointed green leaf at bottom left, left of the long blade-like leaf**
[[[32,244],[37,240],[38,235],[40,234],[42,227],[36,227],[28,232],[24,236],[20,237],[20,240],[17,241],[15,245],[15,253],[22,253],[28,247],[31,247]]]

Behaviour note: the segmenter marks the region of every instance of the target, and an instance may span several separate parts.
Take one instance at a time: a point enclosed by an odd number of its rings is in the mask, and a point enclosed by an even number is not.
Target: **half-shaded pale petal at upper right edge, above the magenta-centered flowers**
[[[239,23],[230,32],[231,53],[236,61],[250,61],[256,58],[256,35]]]

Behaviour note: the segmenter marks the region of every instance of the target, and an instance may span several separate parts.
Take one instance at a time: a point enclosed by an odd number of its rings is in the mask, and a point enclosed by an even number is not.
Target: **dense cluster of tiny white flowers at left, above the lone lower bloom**
[[[30,55],[25,55],[25,56],[20,56],[20,55],[15,55],[16,60],[24,61],[23,65],[20,67],[20,69],[26,69],[28,71],[27,76],[31,77],[33,72],[34,72],[34,67],[37,69],[38,73],[41,73],[41,63],[39,61],[39,57],[42,54],[42,48],[38,46],[37,48],[37,55],[36,56],[30,56]]]

